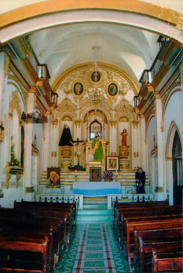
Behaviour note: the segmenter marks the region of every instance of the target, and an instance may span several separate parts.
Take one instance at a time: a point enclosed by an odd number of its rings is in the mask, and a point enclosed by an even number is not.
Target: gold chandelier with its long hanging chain
[[[105,97],[105,92],[102,91],[101,88],[98,88],[98,85],[97,85],[97,56],[96,56],[97,47],[93,47],[93,49],[95,50],[95,62],[94,62],[94,64],[95,64],[95,74],[94,74],[95,84],[92,89],[88,90],[86,99],[88,102],[98,103],[102,100],[106,100],[106,97]]]

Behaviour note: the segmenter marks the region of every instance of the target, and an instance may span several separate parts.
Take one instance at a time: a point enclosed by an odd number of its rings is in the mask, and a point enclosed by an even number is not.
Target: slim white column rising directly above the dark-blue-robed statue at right
[[[145,143],[145,116],[140,114],[141,122],[141,157],[142,157],[142,169],[147,171],[147,159],[146,159],[146,143]]]

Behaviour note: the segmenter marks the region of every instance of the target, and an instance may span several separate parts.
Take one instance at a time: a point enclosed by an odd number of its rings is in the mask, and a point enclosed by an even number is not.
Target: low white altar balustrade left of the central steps
[[[83,209],[82,194],[34,194],[34,201],[48,203],[72,203],[76,201],[76,207]]]

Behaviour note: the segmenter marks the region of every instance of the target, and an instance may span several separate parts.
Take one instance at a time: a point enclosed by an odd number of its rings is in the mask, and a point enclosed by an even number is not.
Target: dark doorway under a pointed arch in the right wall
[[[174,205],[179,205],[182,204],[182,147],[177,130],[172,147],[172,168]]]

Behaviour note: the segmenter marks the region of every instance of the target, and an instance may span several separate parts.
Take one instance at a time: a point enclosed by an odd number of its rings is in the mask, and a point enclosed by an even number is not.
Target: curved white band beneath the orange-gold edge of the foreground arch
[[[181,29],[171,24],[140,14],[109,10],[74,10],[27,19],[2,28],[0,42],[4,44],[16,37],[53,26],[86,22],[105,22],[136,27],[183,42]]]

